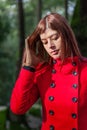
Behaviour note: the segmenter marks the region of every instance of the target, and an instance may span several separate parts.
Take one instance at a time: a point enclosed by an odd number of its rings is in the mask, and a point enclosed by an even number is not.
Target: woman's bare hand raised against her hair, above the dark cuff
[[[35,68],[39,64],[39,62],[41,62],[41,59],[40,57],[36,56],[35,52],[31,49],[28,43],[28,39],[29,37],[25,39],[25,54],[23,65]]]

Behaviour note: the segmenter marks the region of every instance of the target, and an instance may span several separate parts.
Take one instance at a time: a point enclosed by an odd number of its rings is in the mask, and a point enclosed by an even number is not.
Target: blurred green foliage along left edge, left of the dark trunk
[[[14,36],[17,31],[14,30],[13,10],[13,6],[11,7],[7,1],[0,3],[0,105],[9,102],[11,88],[16,78],[15,66],[18,53],[15,48],[17,38]]]

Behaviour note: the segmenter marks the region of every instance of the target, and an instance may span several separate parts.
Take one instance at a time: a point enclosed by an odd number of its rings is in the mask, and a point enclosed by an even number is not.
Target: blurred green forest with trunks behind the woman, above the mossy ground
[[[50,12],[66,17],[82,55],[87,56],[86,0],[0,0],[0,106],[9,105],[21,67],[25,38]]]

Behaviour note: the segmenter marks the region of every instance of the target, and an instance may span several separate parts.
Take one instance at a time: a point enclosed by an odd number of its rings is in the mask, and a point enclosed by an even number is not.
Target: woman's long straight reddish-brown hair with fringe
[[[46,20],[49,28],[56,30],[62,39],[62,54],[61,59],[64,61],[65,57],[78,56],[81,57],[75,35],[67,23],[67,20],[58,13],[51,13],[40,20],[34,32],[30,35],[28,42],[31,48],[38,53],[38,55],[48,60],[49,56],[45,51],[40,39],[40,34],[46,30]]]

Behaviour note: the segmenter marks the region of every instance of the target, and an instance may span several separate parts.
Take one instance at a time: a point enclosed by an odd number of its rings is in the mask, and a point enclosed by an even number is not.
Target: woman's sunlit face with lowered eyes
[[[40,38],[47,53],[53,59],[60,58],[62,41],[58,32],[48,28],[40,35]]]

